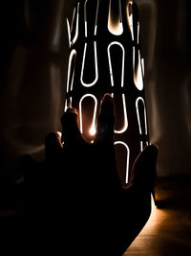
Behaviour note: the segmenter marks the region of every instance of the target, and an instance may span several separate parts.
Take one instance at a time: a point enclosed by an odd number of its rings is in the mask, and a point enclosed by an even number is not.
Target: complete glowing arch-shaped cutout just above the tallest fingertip
[[[111,47],[114,47],[114,46],[120,47],[120,49],[122,50],[122,59],[121,59],[121,83],[120,83],[120,86],[123,87],[123,85],[124,85],[125,49],[124,49],[124,47],[122,46],[122,44],[119,43],[119,42],[117,42],[117,41],[111,42],[111,43],[108,45],[108,48],[107,48],[108,60],[109,60],[109,69],[110,69],[111,85],[112,85],[112,86],[115,85],[115,84],[114,84],[114,75],[113,75],[113,68],[112,68],[111,53],[110,53]],[[119,70],[120,70],[120,69],[119,69]]]

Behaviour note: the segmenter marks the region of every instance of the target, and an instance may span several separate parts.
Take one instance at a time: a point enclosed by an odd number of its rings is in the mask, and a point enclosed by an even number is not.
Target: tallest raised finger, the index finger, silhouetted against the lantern
[[[95,142],[113,142],[114,139],[114,100],[110,94],[105,94],[101,100],[97,118]]]

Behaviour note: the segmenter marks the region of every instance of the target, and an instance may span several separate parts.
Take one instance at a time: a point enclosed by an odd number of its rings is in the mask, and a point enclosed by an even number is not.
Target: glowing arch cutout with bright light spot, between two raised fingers
[[[95,107],[94,107],[94,114],[93,114],[93,121],[92,121],[92,125],[91,128],[89,129],[89,132],[91,135],[96,134],[96,110],[97,110],[97,100],[96,100],[96,96],[88,93],[85,94],[79,101],[79,127],[80,127],[80,131],[81,133],[83,133],[83,118],[82,118],[82,102],[85,98],[87,97],[91,97],[93,98],[94,102],[95,102]]]

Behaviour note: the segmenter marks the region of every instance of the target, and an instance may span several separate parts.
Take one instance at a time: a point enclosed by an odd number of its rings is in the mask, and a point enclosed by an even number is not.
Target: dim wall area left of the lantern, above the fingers
[[[19,175],[19,159],[44,158],[44,139],[59,130],[68,41],[65,1],[4,1],[5,45],[0,87],[2,175]]]

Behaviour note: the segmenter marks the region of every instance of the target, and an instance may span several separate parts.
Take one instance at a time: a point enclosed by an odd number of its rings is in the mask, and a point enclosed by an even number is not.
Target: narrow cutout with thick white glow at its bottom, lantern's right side
[[[135,47],[133,47],[133,70],[134,83],[138,90],[141,91],[143,89],[142,63],[140,59],[140,51],[138,50],[138,52],[136,53]]]

